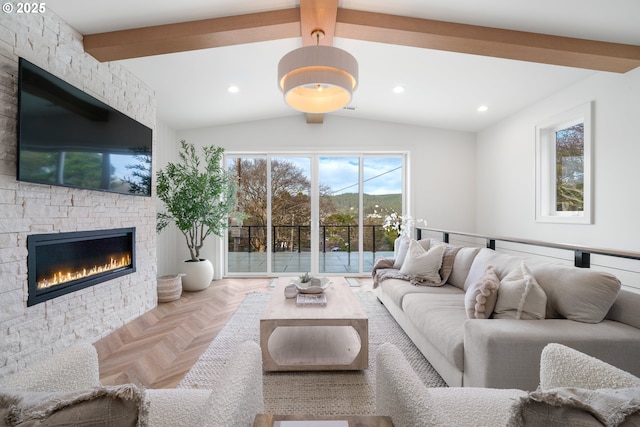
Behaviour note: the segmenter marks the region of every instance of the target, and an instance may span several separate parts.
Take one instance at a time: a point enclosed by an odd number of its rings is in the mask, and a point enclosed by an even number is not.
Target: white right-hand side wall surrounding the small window
[[[535,84],[535,82],[532,82]],[[594,223],[535,222],[535,126],[588,101],[594,108]],[[478,134],[477,232],[640,250],[640,69],[598,73]]]

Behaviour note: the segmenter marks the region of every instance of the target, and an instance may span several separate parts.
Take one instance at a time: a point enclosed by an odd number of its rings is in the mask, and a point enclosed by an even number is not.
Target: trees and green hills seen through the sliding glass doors
[[[267,161],[237,158],[229,167],[238,176],[238,211],[244,214],[243,228],[229,242],[237,251],[264,252],[267,245]],[[310,181],[295,164],[271,160],[271,224],[274,250],[305,251],[311,245]],[[321,250],[357,250],[358,194],[331,195],[320,186]],[[402,195],[365,195],[363,236],[365,250],[392,250],[396,229],[384,226],[391,214],[402,211]],[[375,227],[375,231],[373,228]],[[374,239],[375,236],[375,239]],[[234,240],[235,239],[235,240]]]

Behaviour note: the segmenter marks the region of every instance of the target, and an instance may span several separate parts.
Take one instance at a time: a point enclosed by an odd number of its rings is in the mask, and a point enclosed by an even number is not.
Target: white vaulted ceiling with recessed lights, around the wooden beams
[[[298,6],[296,0],[47,0],[82,34]],[[339,7],[640,45],[638,0],[340,0]],[[300,39],[118,61],[156,91],[158,118],[176,130],[301,115],[284,104],[278,61]],[[594,71],[344,38],[360,81],[333,115],[478,131]],[[237,85],[236,94],[227,92]],[[405,92],[392,92],[396,84]],[[477,107],[487,105],[479,113]],[[302,120],[302,119],[301,119]]]

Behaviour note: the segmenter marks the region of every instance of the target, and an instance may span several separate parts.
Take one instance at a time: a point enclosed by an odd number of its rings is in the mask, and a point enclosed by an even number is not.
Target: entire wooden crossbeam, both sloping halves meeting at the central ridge
[[[84,46],[98,60],[113,61],[296,38],[315,25],[311,22],[325,26],[323,44],[332,44],[326,34],[334,35],[327,22],[335,2],[301,0],[300,8],[91,34]],[[311,11],[316,6],[318,11]],[[336,9],[335,37],[617,73],[640,67],[636,45]]]

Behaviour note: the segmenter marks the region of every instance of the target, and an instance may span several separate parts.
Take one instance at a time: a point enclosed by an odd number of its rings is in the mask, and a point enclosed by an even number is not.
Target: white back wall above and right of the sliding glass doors
[[[475,135],[418,126],[354,120],[332,115],[323,124],[307,124],[304,115],[177,132],[177,139],[218,145],[228,152],[407,152],[411,182],[410,213],[429,225],[473,231],[475,226]],[[159,245],[186,259],[186,248]],[[219,277],[217,239],[205,243]],[[162,269],[162,265],[159,267]],[[179,266],[174,264],[174,268]],[[177,272],[178,270],[174,270]]]

